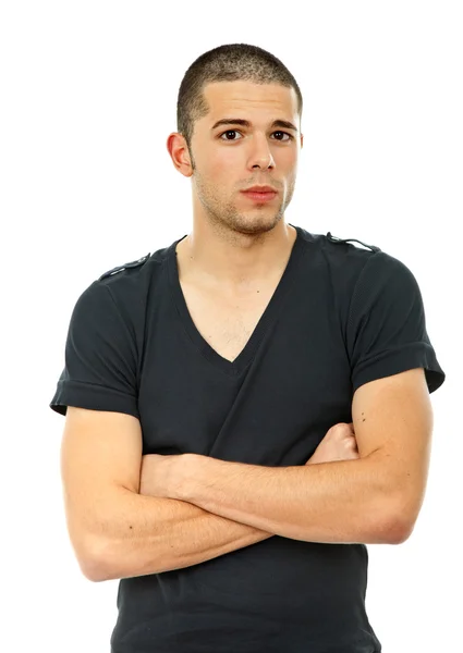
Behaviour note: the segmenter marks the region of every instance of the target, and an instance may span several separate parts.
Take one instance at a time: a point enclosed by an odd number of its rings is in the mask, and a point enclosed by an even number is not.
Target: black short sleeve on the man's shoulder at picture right
[[[426,331],[422,293],[411,270],[378,251],[368,258],[351,298],[346,328],[353,392],[364,383],[424,368],[429,393],[442,371]]]

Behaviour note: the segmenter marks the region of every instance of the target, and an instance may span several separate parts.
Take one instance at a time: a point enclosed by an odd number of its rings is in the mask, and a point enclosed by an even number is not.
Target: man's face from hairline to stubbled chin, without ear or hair
[[[292,199],[302,147],[300,131],[272,123],[287,121],[300,130],[297,96],[279,84],[243,81],[208,84],[204,95],[210,110],[195,122],[192,138],[195,212],[243,234],[270,231]],[[223,119],[251,125],[215,126]],[[278,190],[269,201],[242,193],[266,184]]]

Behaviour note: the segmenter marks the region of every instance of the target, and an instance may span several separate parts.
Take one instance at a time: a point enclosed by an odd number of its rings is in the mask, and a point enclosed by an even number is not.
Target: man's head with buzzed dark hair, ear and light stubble
[[[175,168],[192,177],[196,213],[243,234],[276,226],[294,193],[302,104],[288,69],[256,46],[220,46],[190,66],[168,149]],[[247,124],[216,124],[224,119]],[[254,185],[270,185],[278,195],[255,201],[242,193]]]

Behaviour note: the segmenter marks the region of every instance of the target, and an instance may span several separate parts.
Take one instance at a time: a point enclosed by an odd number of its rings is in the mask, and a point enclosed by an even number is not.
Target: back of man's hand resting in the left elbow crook
[[[138,494],[176,498],[176,492],[182,483],[185,457],[188,455],[191,454],[173,456],[147,454],[142,456]]]

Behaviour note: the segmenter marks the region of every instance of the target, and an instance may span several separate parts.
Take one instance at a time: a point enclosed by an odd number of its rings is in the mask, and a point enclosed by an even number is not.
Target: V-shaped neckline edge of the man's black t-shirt
[[[220,354],[218,354],[216,349],[214,349],[209,345],[209,343],[203,337],[203,335],[197,330],[196,324],[194,323],[190,315],[188,308],[186,306],[182,286],[180,285],[179,266],[176,262],[175,248],[178,243],[183,241],[183,238],[186,238],[187,234],[185,234],[182,238],[179,238],[178,241],[172,243],[170,247],[168,247],[167,270],[169,286],[182,325],[184,326],[187,335],[190,336],[190,340],[192,341],[193,345],[198,349],[200,355],[204,356],[207,360],[209,360],[209,362],[216,366],[219,370],[231,377],[239,374],[247,366],[247,364],[251,362],[269,325],[276,319],[278,310],[281,306],[281,301],[285,293],[288,292],[292,276],[294,275],[297,259],[301,255],[301,251],[303,250],[303,238],[301,229],[298,226],[295,226],[294,224],[289,224],[290,226],[293,226],[297,233],[296,238],[293,243],[293,247],[291,249],[291,255],[288,260],[287,267],[284,268],[283,274],[280,281],[278,282],[273,295],[271,296],[270,301],[264,310],[264,313],[261,315],[260,320],[254,329],[249,340],[233,361],[230,361],[227,358],[223,358],[223,356],[220,356]]]

